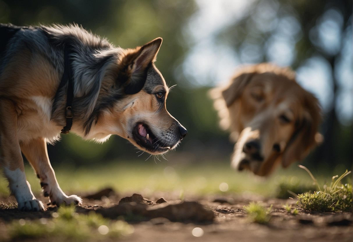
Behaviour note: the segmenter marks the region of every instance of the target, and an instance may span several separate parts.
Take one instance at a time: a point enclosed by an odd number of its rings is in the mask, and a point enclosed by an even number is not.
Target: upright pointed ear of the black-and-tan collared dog
[[[126,79],[123,86],[126,94],[138,93],[145,85],[147,71],[156,60],[161,44],[162,38],[159,37],[142,47],[130,50],[124,56],[122,65],[125,68]]]

